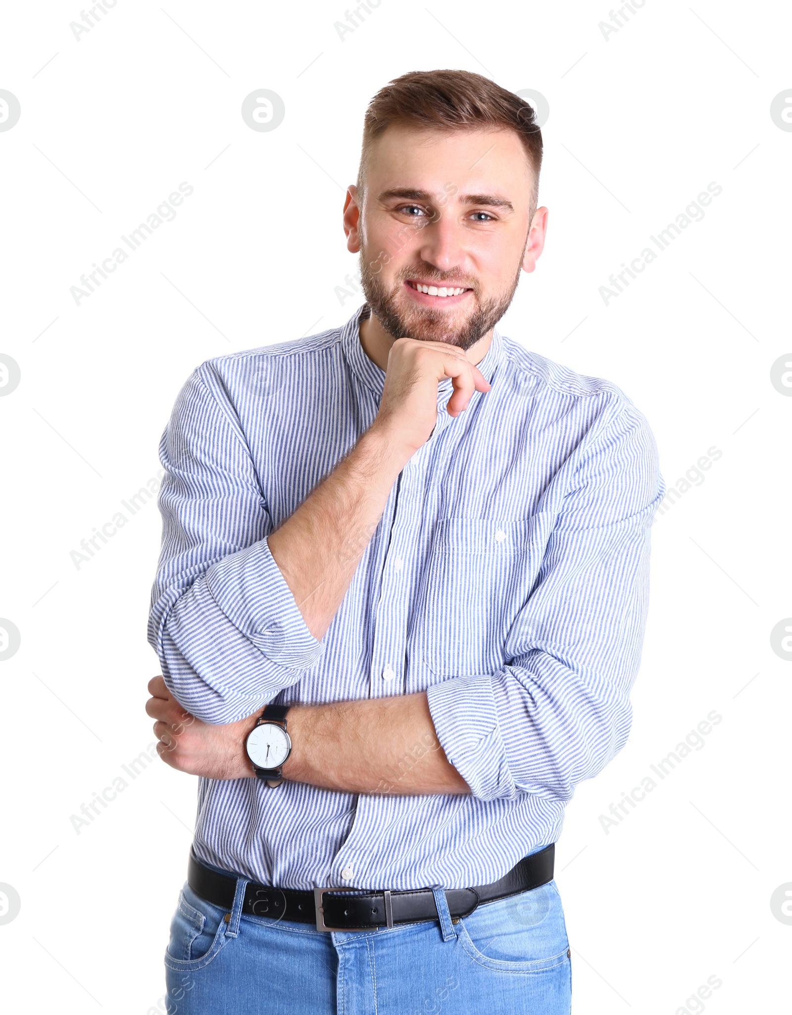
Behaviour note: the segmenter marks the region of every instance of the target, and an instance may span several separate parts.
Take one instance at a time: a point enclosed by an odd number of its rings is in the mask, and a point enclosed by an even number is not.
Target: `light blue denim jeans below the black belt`
[[[572,967],[555,882],[391,930],[328,933],[242,916],[185,884],[166,952],[169,1015],[569,1015]]]

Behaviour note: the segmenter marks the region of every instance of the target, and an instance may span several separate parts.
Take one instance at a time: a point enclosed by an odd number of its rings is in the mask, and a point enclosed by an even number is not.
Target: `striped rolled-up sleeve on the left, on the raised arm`
[[[148,642],[194,716],[230,723],[296,683],[324,652],[267,545],[272,521],[221,380],[188,380],[159,446],[162,546]]]

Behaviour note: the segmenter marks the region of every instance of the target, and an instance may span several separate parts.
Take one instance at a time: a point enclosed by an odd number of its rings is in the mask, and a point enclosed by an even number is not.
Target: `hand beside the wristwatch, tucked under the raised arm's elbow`
[[[154,735],[159,757],[172,768],[207,779],[247,779],[253,775],[245,740],[256,725],[256,717],[212,726],[202,723],[181,704],[161,677],[148,681],[151,697],[146,713],[155,719]]]

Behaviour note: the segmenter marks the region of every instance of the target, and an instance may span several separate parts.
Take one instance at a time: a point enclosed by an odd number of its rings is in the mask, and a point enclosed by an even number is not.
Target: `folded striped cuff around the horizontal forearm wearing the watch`
[[[507,764],[491,677],[455,677],[433,684],[426,696],[446,757],[473,796],[479,800],[519,796]]]

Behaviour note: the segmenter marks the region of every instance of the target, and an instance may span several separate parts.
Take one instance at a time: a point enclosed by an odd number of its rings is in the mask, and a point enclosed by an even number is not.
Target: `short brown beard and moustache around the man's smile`
[[[366,256],[365,250],[360,250],[360,283],[366,295],[366,300],[371,308],[372,314],[377,318],[385,331],[393,338],[415,338],[423,342],[445,342],[447,345],[455,345],[466,352],[474,346],[491,328],[493,328],[501,318],[509,310],[509,306],[514,298],[517,283],[520,281],[522,264],[518,266],[517,274],[505,295],[481,300],[478,295],[477,286],[471,285],[472,296],[475,299],[475,309],[469,314],[461,326],[456,329],[449,329],[448,315],[443,311],[423,310],[414,308],[406,314],[401,314],[397,310],[396,299],[402,286],[408,278],[419,275],[427,281],[437,282],[443,285],[443,273],[438,271],[427,271],[422,268],[404,268],[399,271],[393,289],[388,292],[383,285],[379,274],[371,270],[371,263]],[[452,278],[451,272],[446,273],[450,281],[458,281]]]

